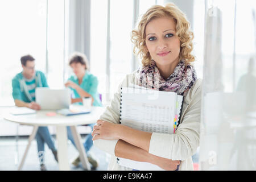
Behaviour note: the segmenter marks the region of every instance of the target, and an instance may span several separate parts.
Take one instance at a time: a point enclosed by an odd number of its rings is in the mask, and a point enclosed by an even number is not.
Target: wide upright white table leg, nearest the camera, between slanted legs
[[[58,143],[57,155],[60,171],[69,171],[67,127],[56,126],[56,138]]]

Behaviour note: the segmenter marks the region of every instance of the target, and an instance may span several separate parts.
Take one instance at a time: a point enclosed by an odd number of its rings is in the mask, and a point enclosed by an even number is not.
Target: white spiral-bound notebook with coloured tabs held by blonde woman
[[[133,129],[175,133],[179,125],[183,96],[175,92],[151,90],[134,86],[121,88],[120,122]],[[137,170],[163,170],[146,162],[117,158],[117,164]]]

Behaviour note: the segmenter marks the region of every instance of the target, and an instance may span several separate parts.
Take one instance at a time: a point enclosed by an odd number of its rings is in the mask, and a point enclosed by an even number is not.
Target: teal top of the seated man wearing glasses
[[[35,101],[36,87],[49,87],[46,81],[46,76],[43,72],[36,71],[35,77],[32,80],[27,80],[22,72],[18,73],[12,80],[13,99],[23,102]]]

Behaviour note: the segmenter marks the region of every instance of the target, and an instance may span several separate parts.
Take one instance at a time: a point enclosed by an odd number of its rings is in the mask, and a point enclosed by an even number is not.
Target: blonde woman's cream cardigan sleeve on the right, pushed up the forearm
[[[188,100],[175,134],[152,133],[150,154],[172,160],[185,160],[195,154],[200,143],[201,80],[188,92],[185,102]]]

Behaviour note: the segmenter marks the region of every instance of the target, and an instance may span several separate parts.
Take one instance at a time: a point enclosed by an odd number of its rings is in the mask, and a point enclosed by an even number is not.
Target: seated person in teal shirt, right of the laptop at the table
[[[98,88],[98,79],[96,76],[92,75],[89,72],[89,64],[86,55],[83,53],[75,52],[69,59],[69,65],[73,70],[75,75],[72,75],[68,78],[68,81],[65,83],[66,87],[69,87],[73,91],[72,104],[82,105],[83,97],[91,97],[93,106],[102,106],[100,101],[100,96],[97,92]],[[88,125],[93,128],[94,123]],[[67,127],[68,138],[71,140],[73,145],[76,147],[76,144],[73,140],[70,127]],[[84,148],[86,154],[93,145],[92,135],[87,135],[84,142]],[[93,159],[92,155],[88,155],[88,160],[92,164],[93,168],[98,166],[96,159]],[[73,165],[78,166],[80,162],[79,156],[72,162]]]

